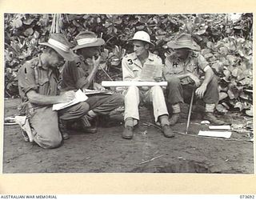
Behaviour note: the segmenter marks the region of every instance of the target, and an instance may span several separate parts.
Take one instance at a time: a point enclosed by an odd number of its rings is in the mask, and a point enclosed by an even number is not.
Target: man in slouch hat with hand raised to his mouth
[[[76,36],[77,51],[74,61],[67,61],[62,70],[62,90],[94,89],[105,90],[97,82],[94,82],[98,71],[100,56],[99,46],[105,44],[102,38],[97,38],[94,32],[84,31]],[[95,60],[94,56],[98,56]],[[110,111],[123,106],[122,94],[90,94],[86,102],[90,105],[90,111],[82,118],[82,127],[86,132],[97,132],[91,126],[91,120],[97,115],[107,115]]]

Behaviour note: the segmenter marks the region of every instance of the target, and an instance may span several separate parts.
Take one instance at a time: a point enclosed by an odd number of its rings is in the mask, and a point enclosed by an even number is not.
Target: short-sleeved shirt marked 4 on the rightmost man
[[[186,74],[190,72],[199,78],[206,66],[209,66],[206,58],[195,51],[191,51],[186,60],[182,60],[174,54],[166,57],[163,74],[166,78],[174,74]],[[189,84],[193,81],[190,78],[183,78],[181,82],[182,84]]]

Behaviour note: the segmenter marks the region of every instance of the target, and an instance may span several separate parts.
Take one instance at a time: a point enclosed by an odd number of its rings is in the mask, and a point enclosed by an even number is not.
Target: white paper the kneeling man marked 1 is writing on
[[[56,103],[53,105],[53,110],[62,110],[63,108],[73,106],[78,102],[84,102],[86,101],[87,98],[88,97],[86,96],[86,94],[82,92],[82,90],[77,90],[75,93],[74,99],[71,102]]]

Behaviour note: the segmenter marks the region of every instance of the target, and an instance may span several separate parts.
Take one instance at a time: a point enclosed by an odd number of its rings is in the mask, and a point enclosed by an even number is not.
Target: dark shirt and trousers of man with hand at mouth
[[[92,84],[86,81],[92,69],[91,59],[84,59],[82,56],[76,56],[74,61],[66,62],[62,70],[62,90],[92,88]],[[94,113],[106,115],[123,105],[123,95],[91,94],[86,102]]]

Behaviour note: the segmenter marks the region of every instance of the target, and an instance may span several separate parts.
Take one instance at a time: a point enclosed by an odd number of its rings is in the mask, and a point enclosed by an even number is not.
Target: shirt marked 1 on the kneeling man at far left
[[[40,56],[25,62],[18,70],[18,90],[22,102],[28,102],[26,93],[30,90],[43,95],[57,95],[58,75],[58,69],[42,67]]]

